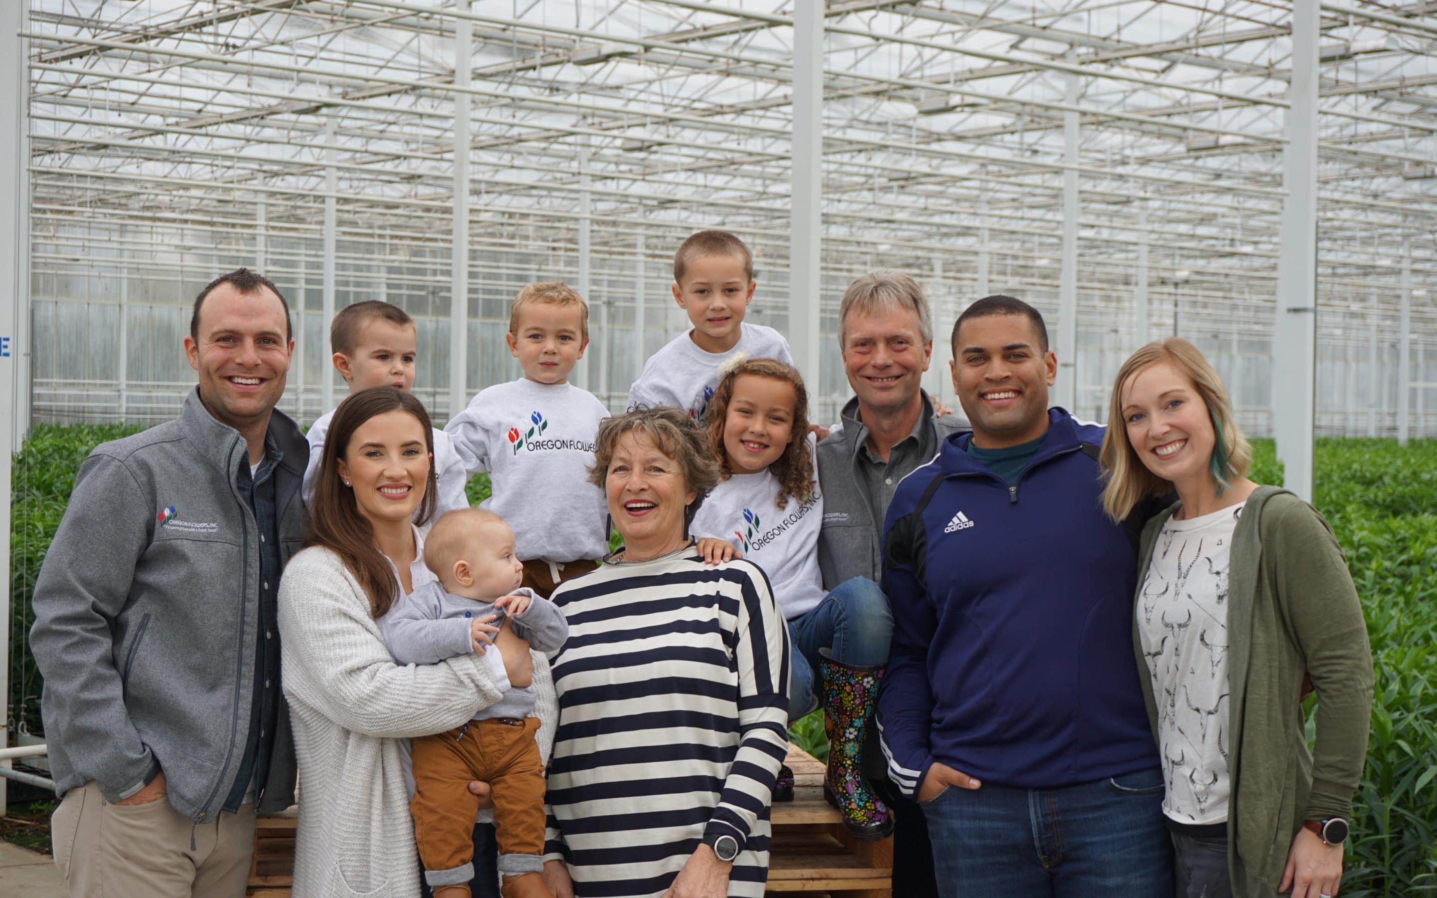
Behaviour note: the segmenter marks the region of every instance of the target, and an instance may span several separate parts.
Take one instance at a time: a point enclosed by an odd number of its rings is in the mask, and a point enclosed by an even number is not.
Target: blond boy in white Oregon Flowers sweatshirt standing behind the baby
[[[589,307],[572,287],[522,289],[504,341],[523,376],[480,391],[444,431],[468,474],[493,477],[480,507],[513,526],[523,585],[547,596],[609,550],[608,504],[589,483],[593,440],[609,409],[569,384],[589,345]]]

